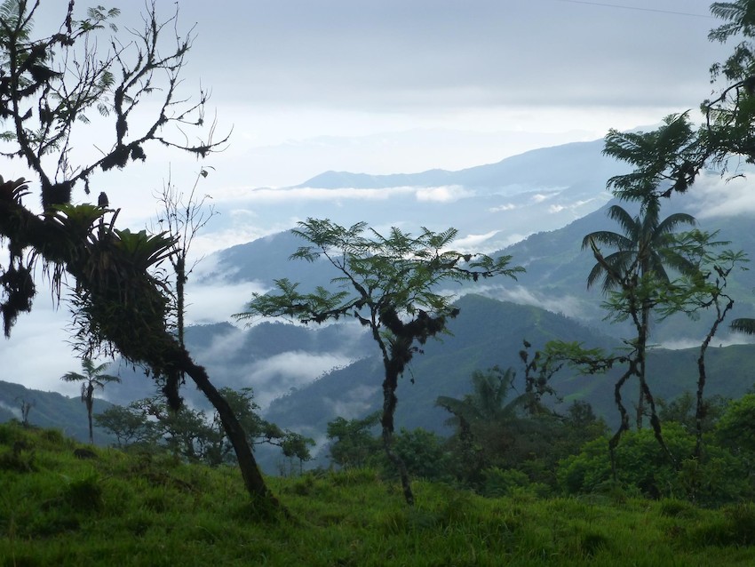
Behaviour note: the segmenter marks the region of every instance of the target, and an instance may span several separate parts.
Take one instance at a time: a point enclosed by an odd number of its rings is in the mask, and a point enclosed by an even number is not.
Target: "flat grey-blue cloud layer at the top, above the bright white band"
[[[223,102],[385,114],[446,110],[446,117],[473,105],[542,108],[554,98],[576,106],[689,108],[697,102],[690,92],[710,90],[708,66],[700,61],[720,60],[725,52],[707,41],[715,21],[703,5],[680,11],[697,16],[690,17],[551,3],[544,18],[541,3],[278,4],[238,2],[227,22],[182,7],[184,19],[202,22],[200,39],[211,38],[197,41],[192,53]],[[250,38],[250,49],[234,49]],[[236,74],[228,84],[213,59],[218,52],[234,54],[231,64],[255,72]],[[505,72],[492,72],[501,60]],[[219,90],[219,84],[227,86]]]

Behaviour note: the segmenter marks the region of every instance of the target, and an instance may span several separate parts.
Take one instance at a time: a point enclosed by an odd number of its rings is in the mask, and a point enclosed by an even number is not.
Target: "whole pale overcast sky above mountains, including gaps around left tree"
[[[38,28],[54,29],[67,4],[43,0]],[[144,4],[120,4],[121,30],[138,27]],[[710,95],[708,69],[730,50],[708,41],[718,20],[698,0],[217,0],[212,12],[198,0],[155,4],[163,18],[178,6],[179,33],[195,34],[180,92],[210,90],[208,119],[231,136],[204,164],[146,148],[147,164],[95,178],[123,208],[119,222],[136,229],[154,224],[154,195],[168,178],[190,188],[200,167],[211,169],[198,190],[229,217],[251,189],[328,170],[457,170],[657,124]],[[78,140],[82,159],[97,152],[98,121],[90,128]],[[6,177],[22,173],[18,162],[5,168]],[[235,230],[211,222],[197,252],[290,227],[284,207],[266,206],[246,210],[251,222]],[[232,300],[249,291],[206,293],[215,303],[202,308],[234,312]],[[29,386],[75,395],[57,381],[78,362],[60,330],[67,312],[53,311],[41,294],[0,358],[32,377]]]

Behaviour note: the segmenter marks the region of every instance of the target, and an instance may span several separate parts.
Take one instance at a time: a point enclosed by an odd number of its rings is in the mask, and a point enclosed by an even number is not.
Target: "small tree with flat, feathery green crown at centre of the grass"
[[[257,316],[288,316],[302,323],[324,323],[353,317],[367,327],[383,359],[383,411],[381,417],[385,454],[398,469],[404,498],[414,495],[409,473],[393,450],[393,414],[398,399],[398,380],[427,339],[448,331],[449,319],[458,315],[453,296],[441,284],[478,281],[491,276],[511,276],[523,271],[510,267],[511,256],[496,260],[485,254],[449,250],[455,228],[435,233],[427,228],[417,236],[391,228],[387,236],[358,222],[346,228],[330,220],[307,219],[293,233],[309,243],[291,258],[314,262],[327,260],[337,276],[309,293],[299,284],[276,280],[276,289],[255,293],[239,320]]]

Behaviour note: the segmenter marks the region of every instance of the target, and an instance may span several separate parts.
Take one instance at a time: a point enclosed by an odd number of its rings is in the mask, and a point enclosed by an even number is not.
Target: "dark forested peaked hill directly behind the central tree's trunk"
[[[459,299],[457,306],[460,314],[449,324],[453,335],[428,342],[399,384],[396,422],[401,427],[445,431],[443,422],[448,414],[434,407],[435,398],[467,393],[475,370],[496,364],[521,369],[522,339],[533,348],[542,348],[552,339],[584,341],[598,347],[616,344],[581,323],[537,307],[473,294]],[[358,417],[380,407],[382,377],[382,363],[377,356],[370,357],[276,400],[266,418],[284,427],[311,427],[308,430],[322,432],[338,415]]]

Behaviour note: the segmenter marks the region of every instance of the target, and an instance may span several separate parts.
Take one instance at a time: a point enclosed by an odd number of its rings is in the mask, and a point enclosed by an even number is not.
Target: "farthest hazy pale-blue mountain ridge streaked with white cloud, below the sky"
[[[539,230],[552,230],[608,202],[606,180],[628,172],[603,156],[602,140],[538,148],[497,163],[458,171],[372,175],[330,171],[281,188],[248,188],[234,195],[234,214],[213,221],[220,230],[293,228],[308,217],[351,226],[459,230],[469,249],[491,252]],[[274,208],[268,218],[266,207]],[[286,223],[290,222],[290,226]]]

